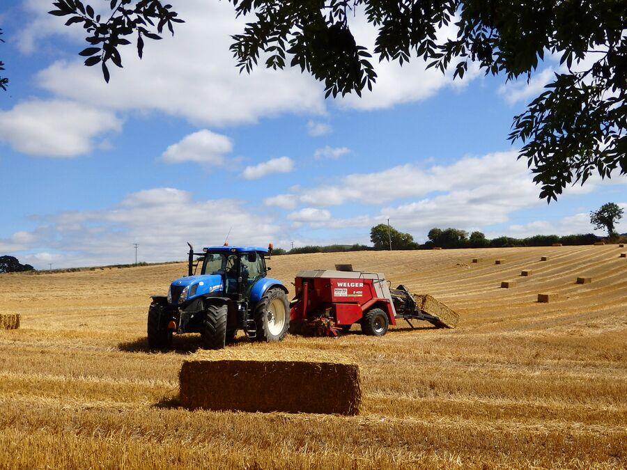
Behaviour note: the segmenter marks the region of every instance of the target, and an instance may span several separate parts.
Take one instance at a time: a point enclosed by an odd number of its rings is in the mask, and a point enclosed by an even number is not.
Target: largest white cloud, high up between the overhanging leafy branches
[[[84,67],[78,59],[57,61],[42,70],[38,84],[84,103],[161,111],[197,125],[324,112],[323,86],[300,70],[268,70],[260,61],[250,75],[240,74],[229,46],[231,35],[241,33],[245,19],[235,19],[229,3],[188,0],[176,10],[185,24],[176,27],[173,37],[165,34],[163,40],[147,40],[141,61],[135,47],[123,47],[124,68],[111,65],[109,84],[104,83],[100,68]]]

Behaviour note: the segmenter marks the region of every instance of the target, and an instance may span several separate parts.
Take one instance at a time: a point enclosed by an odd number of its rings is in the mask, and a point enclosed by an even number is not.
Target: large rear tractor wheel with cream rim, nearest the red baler
[[[255,306],[256,340],[280,341],[290,328],[290,309],[284,290],[274,288],[265,292]]]

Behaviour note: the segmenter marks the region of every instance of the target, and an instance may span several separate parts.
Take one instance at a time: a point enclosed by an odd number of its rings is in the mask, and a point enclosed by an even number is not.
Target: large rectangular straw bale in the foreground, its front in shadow
[[[355,363],[338,358],[312,359],[311,352],[212,353],[183,362],[179,374],[183,407],[265,413],[359,413],[362,391]]]

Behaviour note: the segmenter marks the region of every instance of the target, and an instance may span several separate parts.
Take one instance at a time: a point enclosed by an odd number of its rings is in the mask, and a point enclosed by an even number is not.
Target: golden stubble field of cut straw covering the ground
[[[456,330],[417,322],[382,338],[288,336],[261,348],[341,354],[359,363],[359,416],[189,412],[176,349],[146,345],[150,295],[185,265],[3,274],[0,468],[625,468],[627,259],[616,245],[311,254],[300,269],[384,272],[460,314]],[[540,261],[548,256],[547,261]],[[471,263],[472,258],[482,258]],[[504,264],[495,265],[495,259]],[[532,276],[520,276],[532,269]],[[576,284],[578,276],[592,282]],[[517,281],[500,288],[501,281]],[[536,302],[538,293],[559,301]]]

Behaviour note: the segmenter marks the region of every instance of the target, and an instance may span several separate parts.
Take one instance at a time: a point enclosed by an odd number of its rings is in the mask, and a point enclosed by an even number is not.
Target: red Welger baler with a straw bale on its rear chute
[[[390,289],[380,273],[302,271],[295,279],[290,331],[336,336],[358,323],[365,334],[382,336],[389,325],[425,320],[438,328],[454,328],[458,315],[430,295],[412,295],[403,285]]]

